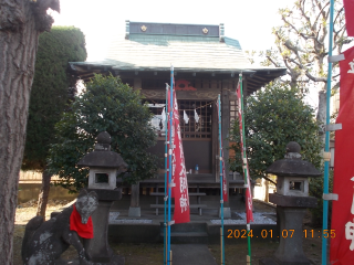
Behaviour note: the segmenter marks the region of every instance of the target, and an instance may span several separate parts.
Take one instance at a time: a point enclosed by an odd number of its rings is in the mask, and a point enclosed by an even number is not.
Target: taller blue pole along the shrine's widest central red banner
[[[168,227],[167,227],[167,253],[168,253],[168,261],[171,263],[170,256],[170,197],[171,197],[171,173],[173,173],[173,166],[171,166],[171,156],[173,156],[173,112],[174,112],[174,66],[170,66],[170,102],[169,102],[169,150],[168,150]]]

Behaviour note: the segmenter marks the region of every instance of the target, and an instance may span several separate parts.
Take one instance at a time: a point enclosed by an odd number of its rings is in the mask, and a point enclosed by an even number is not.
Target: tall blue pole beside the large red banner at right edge
[[[333,50],[333,13],[334,13],[334,0],[330,2],[330,38],[329,38],[329,57],[332,56]],[[326,125],[330,124],[330,99],[331,99],[331,80],[332,80],[332,63],[329,62],[327,73],[327,86],[326,86]],[[325,152],[330,151],[330,131],[325,131]],[[324,180],[323,180],[323,194],[329,193],[329,171],[330,161],[324,161]],[[322,231],[327,230],[329,226],[329,201],[323,200],[323,227]],[[322,265],[326,265],[326,253],[327,253],[327,239],[322,236]]]

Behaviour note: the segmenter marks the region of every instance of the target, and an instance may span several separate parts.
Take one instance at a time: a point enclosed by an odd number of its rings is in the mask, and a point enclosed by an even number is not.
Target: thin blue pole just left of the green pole
[[[221,265],[225,264],[225,247],[223,247],[223,192],[222,183],[225,176],[222,174],[222,145],[221,145],[221,102],[220,94],[218,95],[218,120],[219,120],[219,161],[220,161],[220,216],[221,216],[221,229],[220,229],[220,246],[221,246]]]

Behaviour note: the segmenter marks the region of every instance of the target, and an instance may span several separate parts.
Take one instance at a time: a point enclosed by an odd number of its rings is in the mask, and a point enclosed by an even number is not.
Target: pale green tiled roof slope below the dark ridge
[[[114,40],[108,64],[119,70],[230,71],[252,67],[237,40],[212,36],[131,34]]]

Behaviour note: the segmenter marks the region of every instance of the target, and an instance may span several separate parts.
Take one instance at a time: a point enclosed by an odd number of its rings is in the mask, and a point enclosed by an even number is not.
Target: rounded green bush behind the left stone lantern
[[[150,118],[138,91],[112,75],[95,75],[55,126],[58,144],[51,146],[49,170],[59,174],[60,184],[72,192],[87,186],[88,170],[75,165],[93,150],[96,136],[107,131],[112,150],[128,165],[127,183],[154,177],[157,157],[146,151],[156,144]]]

